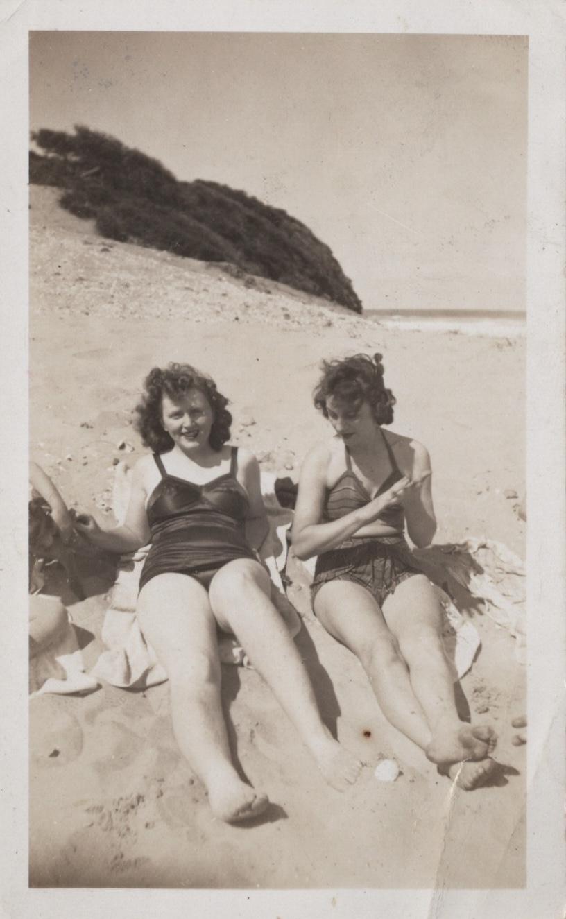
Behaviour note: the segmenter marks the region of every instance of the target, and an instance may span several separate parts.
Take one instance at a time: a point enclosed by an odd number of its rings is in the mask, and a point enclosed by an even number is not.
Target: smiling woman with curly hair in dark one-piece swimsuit
[[[267,521],[254,455],[231,448],[228,400],[188,365],[154,368],[145,380],[137,428],[153,454],[136,464],[122,527],[92,517],[77,525],[120,553],[146,545],[137,617],[169,677],[175,736],[228,822],[266,810],[265,794],[232,765],[221,709],[217,630],[232,633],[271,687],[323,777],[335,789],[362,764],[324,727],[299,652],[270,596],[256,550]]]

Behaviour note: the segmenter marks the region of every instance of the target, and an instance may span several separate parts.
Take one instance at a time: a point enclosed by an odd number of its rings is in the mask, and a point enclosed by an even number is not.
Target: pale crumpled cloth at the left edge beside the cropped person
[[[87,693],[97,688],[96,677],[85,673],[83,654],[71,622],[58,641],[29,661],[29,698],[48,692]]]

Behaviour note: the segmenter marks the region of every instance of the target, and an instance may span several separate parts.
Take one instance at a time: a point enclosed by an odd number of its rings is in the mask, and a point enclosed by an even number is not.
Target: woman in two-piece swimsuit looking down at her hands
[[[385,432],[395,399],[381,356],[323,363],[314,403],[334,427],[300,473],[293,550],[317,556],[312,607],[357,654],[385,716],[464,789],[492,772],[495,735],[458,718],[441,610],[404,538],[436,532],[428,453]]]

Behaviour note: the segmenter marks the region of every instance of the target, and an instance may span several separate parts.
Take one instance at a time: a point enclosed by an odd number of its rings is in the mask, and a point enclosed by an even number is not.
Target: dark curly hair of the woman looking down
[[[312,393],[314,404],[328,417],[326,401],[331,397],[352,406],[367,402],[378,425],[391,425],[395,396],[383,384],[381,355],[355,354],[342,360],[324,360],[323,376]]]

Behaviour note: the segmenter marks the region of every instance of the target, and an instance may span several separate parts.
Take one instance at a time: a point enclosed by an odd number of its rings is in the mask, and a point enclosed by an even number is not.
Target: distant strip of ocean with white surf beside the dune
[[[453,332],[461,335],[526,335],[526,312],[520,310],[364,310],[369,322],[389,328]]]

